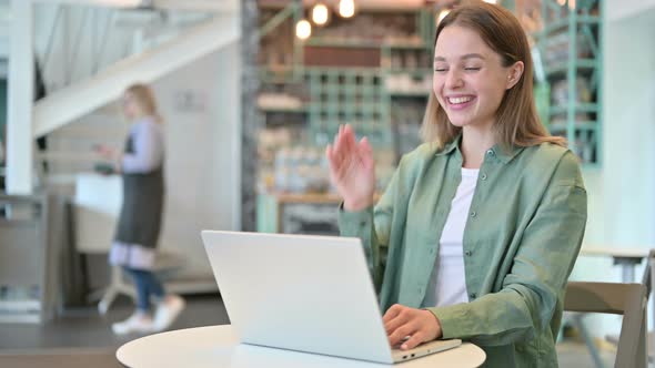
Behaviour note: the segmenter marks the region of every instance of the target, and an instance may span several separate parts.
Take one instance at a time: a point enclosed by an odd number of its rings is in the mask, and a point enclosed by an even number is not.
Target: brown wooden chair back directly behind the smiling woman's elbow
[[[623,315],[614,366],[645,368],[646,292],[647,286],[642,284],[570,282],[564,310]]]

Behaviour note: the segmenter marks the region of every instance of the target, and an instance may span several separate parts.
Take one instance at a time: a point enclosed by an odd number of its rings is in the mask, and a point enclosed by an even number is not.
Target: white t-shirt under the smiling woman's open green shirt
[[[478,168],[462,167],[462,182],[440,239],[439,257],[430,276],[425,307],[443,307],[468,301],[464,276],[464,227],[477,184]]]

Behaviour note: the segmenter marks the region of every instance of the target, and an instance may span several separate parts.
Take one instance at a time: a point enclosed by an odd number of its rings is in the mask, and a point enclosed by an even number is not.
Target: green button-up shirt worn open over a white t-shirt
[[[360,237],[382,310],[423,305],[439,241],[461,182],[458,140],[403,156],[375,208],[340,211]],[[485,367],[556,367],[564,290],[582,244],[586,191],[575,155],[541,144],[488,150],[464,229],[468,303],[427,308],[443,338],[470,339]]]

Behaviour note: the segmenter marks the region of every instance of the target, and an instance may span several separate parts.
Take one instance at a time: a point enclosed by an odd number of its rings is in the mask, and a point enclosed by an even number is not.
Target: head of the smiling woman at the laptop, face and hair
[[[536,114],[533,63],[523,29],[507,10],[487,7],[492,10],[486,14],[460,8],[436,29],[433,93],[422,127],[425,141],[443,146],[461,134],[463,125],[477,123],[491,126],[495,142],[504,147],[543,142],[564,146]],[[460,104],[446,99],[460,95]]]

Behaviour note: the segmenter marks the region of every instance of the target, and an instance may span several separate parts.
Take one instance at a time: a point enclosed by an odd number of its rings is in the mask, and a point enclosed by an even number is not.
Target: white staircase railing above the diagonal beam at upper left
[[[174,39],[214,14],[234,14],[101,8],[97,4],[101,0],[80,1],[84,3],[39,1],[34,6],[34,52],[48,92],[87,80],[103,68]]]

